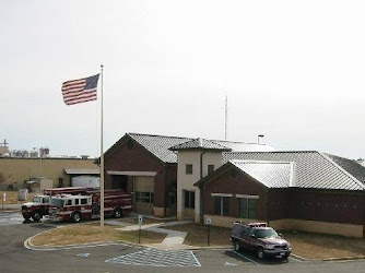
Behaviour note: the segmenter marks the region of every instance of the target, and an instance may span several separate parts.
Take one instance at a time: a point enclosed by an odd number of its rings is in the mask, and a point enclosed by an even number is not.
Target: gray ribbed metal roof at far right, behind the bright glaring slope
[[[244,152],[224,153],[223,163],[232,159],[295,163],[295,186],[298,188],[365,190],[354,176],[319,152]]]

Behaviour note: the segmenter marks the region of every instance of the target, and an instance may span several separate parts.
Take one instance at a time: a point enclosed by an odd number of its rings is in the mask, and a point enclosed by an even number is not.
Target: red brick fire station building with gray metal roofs
[[[105,153],[106,188],[133,193],[133,211],[231,227],[364,237],[365,168],[316,151],[127,133]]]

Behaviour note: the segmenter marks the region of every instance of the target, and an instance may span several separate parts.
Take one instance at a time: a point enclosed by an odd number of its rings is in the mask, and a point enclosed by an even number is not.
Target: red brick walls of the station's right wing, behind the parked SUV
[[[238,217],[235,194],[259,195],[258,219],[306,219],[329,223],[365,225],[364,192],[268,189],[233,167],[205,183],[204,214],[214,214],[211,193],[232,193],[229,216]],[[235,174],[235,175],[234,175]]]

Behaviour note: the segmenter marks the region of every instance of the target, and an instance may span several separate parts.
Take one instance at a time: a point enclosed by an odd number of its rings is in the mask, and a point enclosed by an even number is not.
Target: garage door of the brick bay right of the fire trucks
[[[154,201],[154,177],[137,176],[134,179],[134,212],[152,214]]]

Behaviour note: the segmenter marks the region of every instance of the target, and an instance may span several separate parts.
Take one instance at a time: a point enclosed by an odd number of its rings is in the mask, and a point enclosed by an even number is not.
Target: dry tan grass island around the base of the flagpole
[[[39,234],[32,239],[32,244],[35,246],[67,246],[111,240],[138,244],[138,230],[120,232],[116,228],[115,225],[105,225],[102,232],[98,223],[69,225]],[[160,244],[165,236],[165,234],[141,230],[141,244]]]

